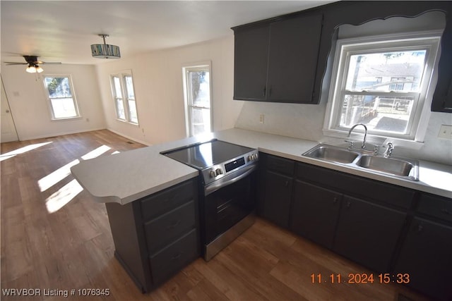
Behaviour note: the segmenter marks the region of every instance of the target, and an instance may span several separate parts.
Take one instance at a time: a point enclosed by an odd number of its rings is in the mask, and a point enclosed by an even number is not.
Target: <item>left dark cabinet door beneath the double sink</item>
[[[291,230],[331,249],[341,197],[332,190],[295,181]]]

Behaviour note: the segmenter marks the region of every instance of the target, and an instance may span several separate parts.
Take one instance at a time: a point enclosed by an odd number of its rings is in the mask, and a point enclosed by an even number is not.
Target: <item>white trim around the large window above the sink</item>
[[[436,80],[437,80],[437,67],[439,63],[439,54],[441,51],[440,42],[439,39],[442,35],[442,30],[430,30],[426,32],[410,32],[405,34],[396,34],[396,35],[376,35],[376,36],[369,36],[369,37],[358,37],[358,38],[351,38],[351,39],[340,39],[338,40],[338,44],[336,46],[334,61],[333,61],[333,73],[331,76],[331,85],[329,90],[329,96],[328,96],[328,103],[326,105],[326,114],[325,114],[325,120],[323,122],[323,135],[326,135],[328,137],[337,137],[337,138],[345,138],[348,134],[348,128],[340,128],[339,126],[336,127],[336,124],[338,123],[338,114],[334,113],[338,110],[338,108],[341,106],[342,102],[340,99],[338,99],[338,95],[340,94],[341,90],[340,87],[336,88],[338,86],[338,71],[339,66],[342,66],[345,64],[345,60],[341,59],[342,56],[342,47],[344,44],[364,44],[364,43],[375,43],[375,44],[381,44],[382,41],[397,41],[397,40],[403,40],[403,39],[418,39],[418,40],[425,40],[429,38],[438,38],[435,44],[429,49],[429,53],[427,54],[427,74],[429,71],[433,71],[430,73],[430,78],[424,79],[425,86],[420,92],[420,99],[421,102],[417,103],[417,109],[415,113],[415,119],[414,122],[417,122],[417,125],[413,125],[412,132],[410,133],[410,137],[407,137],[407,135],[391,135],[389,136],[383,136],[376,133],[369,133],[369,140],[372,140],[372,138],[376,138],[376,140],[382,141],[384,138],[387,138],[386,140],[391,140],[392,142],[397,142],[399,146],[404,147],[410,147],[414,149],[419,149],[422,147],[422,142],[424,141],[425,134],[427,132],[427,125],[429,122],[429,116],[430,116],[430,106],[432,104],[432,98],[434,93],[434,87],[436,86]],[[383,42],[384,44],[384,42]],[[382,48],[382,47],[379,47]],[[384,47],[383,47],[384,48]],[[391,47],[392,48],[392,47]],[[406,47],[405,47],[406,48]],[[342,68],[341,68],[342,70]],[[423,73],[423,76],[426,74],[425,70]],[[423,80],[423,81],[424,81]],[[343,85],[345,85],[345,80],[342,81]],[[334,110],[334,112],[332,111]],[[410,124],[408,125],[410,126]]]

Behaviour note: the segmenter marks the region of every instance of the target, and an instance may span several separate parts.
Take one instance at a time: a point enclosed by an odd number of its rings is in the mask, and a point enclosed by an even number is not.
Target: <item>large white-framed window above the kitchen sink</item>
[[[371,135],[418,140],[440,37],[436,31],[338,40],[323,132],[340,137],[363,123]]]

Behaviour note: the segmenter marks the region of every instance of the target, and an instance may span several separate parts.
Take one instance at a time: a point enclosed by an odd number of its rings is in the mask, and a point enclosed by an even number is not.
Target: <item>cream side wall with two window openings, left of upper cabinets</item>
[[[202,61],[212,64],[213,130],[233,128],[242,102],[232,100],[232,35],[97,65],[107,128],[152,145],[186,137],[182,67]],[[132,71],[139,126],[116,119],[109,76],[121,70]]]

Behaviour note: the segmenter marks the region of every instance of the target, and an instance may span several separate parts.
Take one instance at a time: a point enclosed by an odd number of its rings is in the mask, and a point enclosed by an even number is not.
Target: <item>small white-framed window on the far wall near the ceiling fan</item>
[[[52,120],[80,117],[69,75],[45,75],[44,88],[49,99]]]

